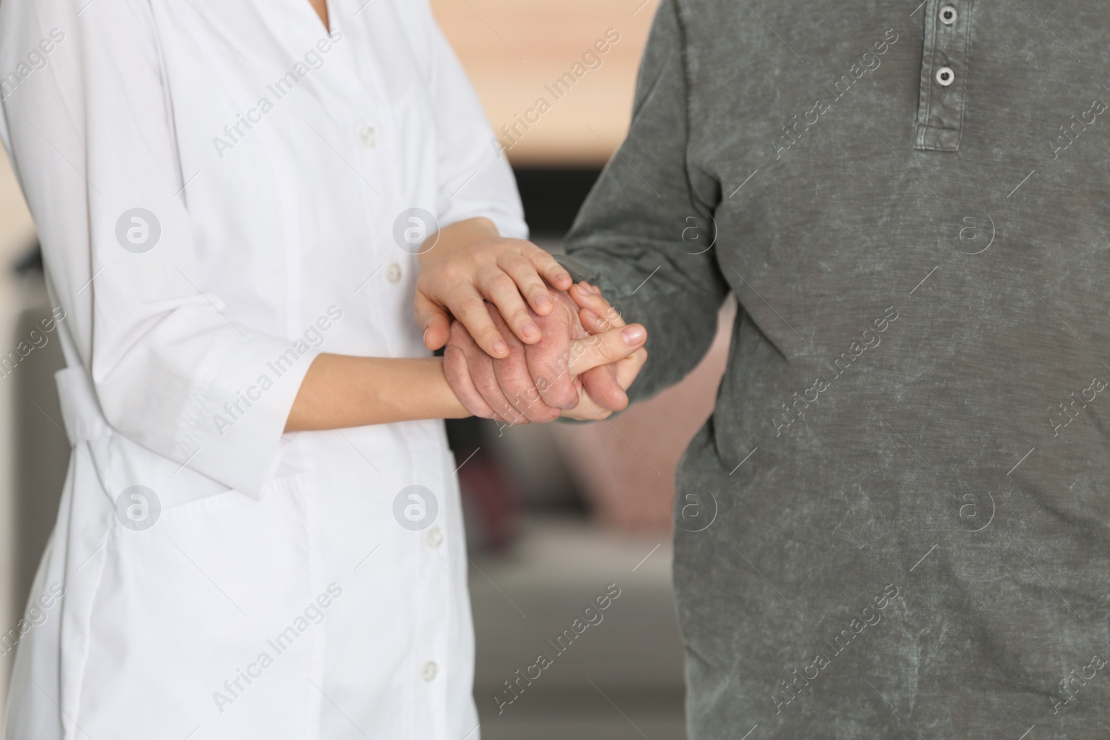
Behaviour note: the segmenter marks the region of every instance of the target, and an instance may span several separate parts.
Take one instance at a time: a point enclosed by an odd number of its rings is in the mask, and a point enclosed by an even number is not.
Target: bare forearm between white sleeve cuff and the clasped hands
[[[440,357],[322,354],[301,383],[285,432],[470,415],[447,385]]]

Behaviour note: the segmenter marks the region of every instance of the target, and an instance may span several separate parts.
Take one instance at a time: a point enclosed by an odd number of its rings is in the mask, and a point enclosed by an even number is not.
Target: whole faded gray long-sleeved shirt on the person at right
[[[1110,730],[1107,28],[664,0],[566,265],[648,327],[634,397],[740,304],[678,472],[692,739]]]

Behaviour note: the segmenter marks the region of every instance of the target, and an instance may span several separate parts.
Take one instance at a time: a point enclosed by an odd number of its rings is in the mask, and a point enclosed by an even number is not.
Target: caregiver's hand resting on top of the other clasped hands
[[[532,242],[501,236],[488,219],[468,219],[441,229],[428,236],[428,244],[431,249],[420,254],[415,303],[416,323],[424,330],[428,349],[446,344],[451,315],[493,357],[507,356],[507,341],[514,336],[534,344],[541,337],[535,316],[547,316],[555,308],[544,281],[558,291],[573,282],[555,257]],[[501,331],[486,311],[486,301],[506,320]]]

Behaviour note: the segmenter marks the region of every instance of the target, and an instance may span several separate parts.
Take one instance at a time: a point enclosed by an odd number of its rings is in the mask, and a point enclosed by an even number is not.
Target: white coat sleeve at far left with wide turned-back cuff
[[[0,3],[0,68],[48,39],[44,65],[6,92],[0,131],[67,314],[69,361],[115,432],[259,496],[315,352],[204,291],[149,0]],[[297,362],[260,387],[290,352]]]

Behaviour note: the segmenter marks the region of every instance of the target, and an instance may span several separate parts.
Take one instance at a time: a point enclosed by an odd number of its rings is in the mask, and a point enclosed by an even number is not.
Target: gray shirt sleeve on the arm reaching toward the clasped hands
[[[713,243],[720,186],[687,160],[690,59],[679,0],[663,0],[640,64],[628,136],[578,214],[561,262],[598,284],[648,331],[629,388],[643,399],[677,383],[708,351],[728,287]]]

